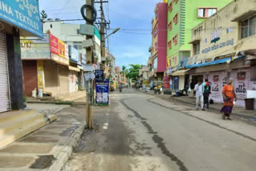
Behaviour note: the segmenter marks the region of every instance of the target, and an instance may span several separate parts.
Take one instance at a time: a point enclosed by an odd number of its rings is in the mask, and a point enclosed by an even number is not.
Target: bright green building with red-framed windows
[[[179,62],[183,60],[186,61],[187,58],[190,58],[191,30],[232,1],[233,0],[168,0],[168,70],[180,67],[181,64],[179,64]]]

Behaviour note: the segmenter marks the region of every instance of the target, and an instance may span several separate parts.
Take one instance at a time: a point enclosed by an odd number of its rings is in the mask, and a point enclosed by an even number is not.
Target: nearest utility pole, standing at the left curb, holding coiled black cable
[[[94,0],[86,0],[86,5],[94,6]],[[86,17],[92,18],[92,10],[90,8],[86,9]],[[86,22],[88,25],[93,25],[90,22]],[[86,36],[86,39],[92,39],[92,36]],[[93,50],[92,48],[86,48],[86,64],[92,65],[93,64]],[[92,84],[92,86],[94,86]],[[93,109],[91,106],[91,96],[92,92],[90,89],[90,81],[86,80],[86,128],[92,129],[93,128]]]

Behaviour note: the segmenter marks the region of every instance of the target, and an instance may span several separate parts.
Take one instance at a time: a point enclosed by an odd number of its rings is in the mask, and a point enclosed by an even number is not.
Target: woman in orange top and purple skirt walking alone
[[[234,107],[234,101],[237,101],[237,97],[236,94],[234,93],[234,87],[232,83],[233,79],[228,79],[227,84],[222,89],[224,105],[222,107],[221,113],[223,113],[222,118],[224,120],[226,119],[226,117],[228,120],[231,120],[230,114],[232,113],[232,109]]]

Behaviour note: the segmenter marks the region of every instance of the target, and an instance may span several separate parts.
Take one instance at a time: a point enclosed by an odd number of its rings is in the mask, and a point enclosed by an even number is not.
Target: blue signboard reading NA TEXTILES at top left
[[[38,0],[0,1],[0,19],[43,37]]]

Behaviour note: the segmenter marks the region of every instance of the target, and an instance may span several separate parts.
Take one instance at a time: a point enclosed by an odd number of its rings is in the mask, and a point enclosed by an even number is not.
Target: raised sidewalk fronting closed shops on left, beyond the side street
[[[27,103],[47,103],[56,105],[86,104],[86,91],[60,94],[55,97],[28,97]]]

